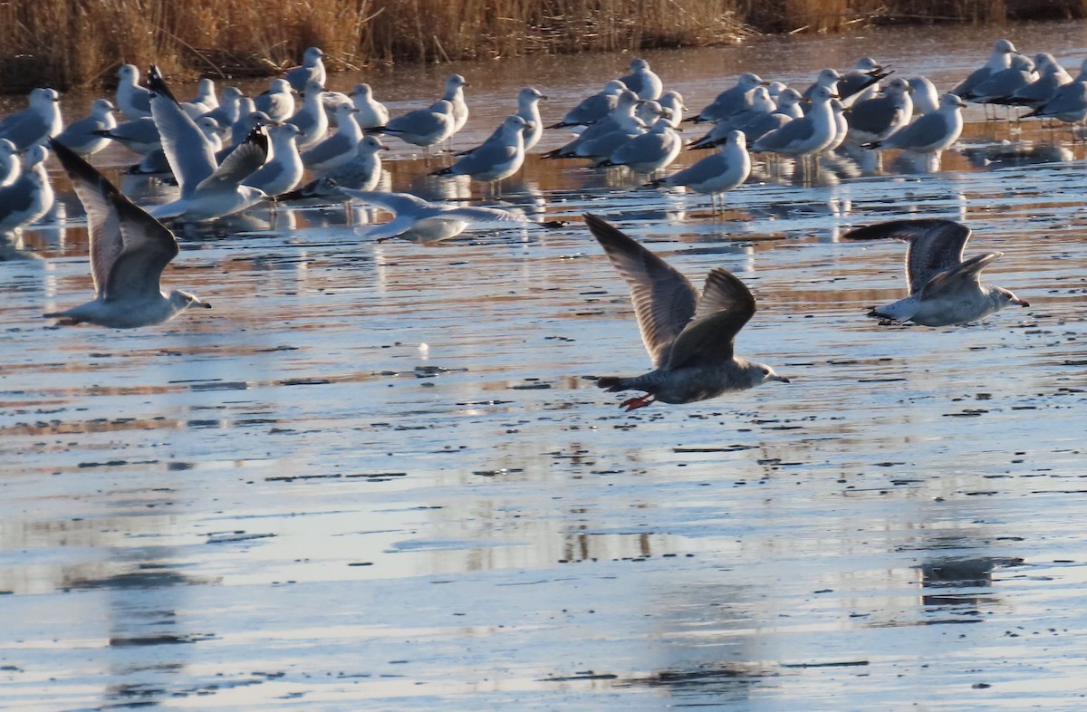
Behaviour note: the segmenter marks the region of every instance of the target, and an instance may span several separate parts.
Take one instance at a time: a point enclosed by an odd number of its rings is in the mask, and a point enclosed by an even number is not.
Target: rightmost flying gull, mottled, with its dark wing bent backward
[[[1009,304],[1029,307],[1003,287],[983,285],[982,270],[1003,252],[962,259],[971,230],[950,220],[895,220],[851,230],[844,239],[896,238],[909,242],[905,279],[910,296],[879,307],[869,316],[923,326],[965,324],[985,318]]]

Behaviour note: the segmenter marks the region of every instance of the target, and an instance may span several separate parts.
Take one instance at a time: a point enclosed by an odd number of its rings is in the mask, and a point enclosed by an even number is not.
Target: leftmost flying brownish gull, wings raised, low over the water
[[[174,234],[63,143],[52,147],[87,211],[95,299],[43,316],[65,326],[135,328],[170,321],[189,307],[211,309],[187,291],[161,291],[162,271],[178,252]]]

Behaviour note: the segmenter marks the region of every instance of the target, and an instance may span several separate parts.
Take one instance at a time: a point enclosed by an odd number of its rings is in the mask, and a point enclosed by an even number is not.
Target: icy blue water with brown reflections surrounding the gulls
[[[742,71],[862,53],[946,88],[999,32],[648,57],[698,109]],[[1083,24],[1007,36],[1087,54]],[[404,109],[462,72],[468,146],[520,86],[557,121],[627,60],[367,78]],[[938,173],[888,153],[746,185],[723,216],[535,159],[503,200],[565,226],[378,245],[359,209],[254,211],[179,230],[164,283],[214,308],[134,332],[40,317],[91,292],[59,178],[21,241],[47,259],[0,264],[0,708],[1084,709],[1087,164],[1066,130],[967,118]],[[389,143],[387,187],[479,198]],[[738,351],[791,383],[617,410],[585,376],[648,359],[585,211],[696,282],[739,275],[759,311]],[[1032,307],[865,318],[903,293],[904,247],[838,236],[917,215],[967,222]]]

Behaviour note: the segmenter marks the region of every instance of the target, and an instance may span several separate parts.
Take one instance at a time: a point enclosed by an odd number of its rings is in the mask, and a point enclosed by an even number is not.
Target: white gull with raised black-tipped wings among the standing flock
[[[151,89],[151,115],[162,135],[166,160],[182,189],[177,200],[152,208],[152,216],[212,220],[267,199],[261,190],[241,185],[267,160],[267,135],[263,127],[254,128],[245,143],[217,164],[211,141],[174,99],[153,64],[148,73],[148,84]]]

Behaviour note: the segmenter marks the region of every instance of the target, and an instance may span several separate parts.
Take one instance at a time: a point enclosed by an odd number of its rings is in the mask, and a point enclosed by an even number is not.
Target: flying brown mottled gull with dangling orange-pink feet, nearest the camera
[[[767,380],[788,383],[767,365],[734,352],[734,341],[754,314],[754,297],[727,270],[712,270],[700,295],[674,267],[600,217],[585,222],[630,288],[641,340],[653,370],[633,378],[603,376],[609,391],[641,390],[620,408],[633,411],[654,401],[690,403],[752,388]]]

